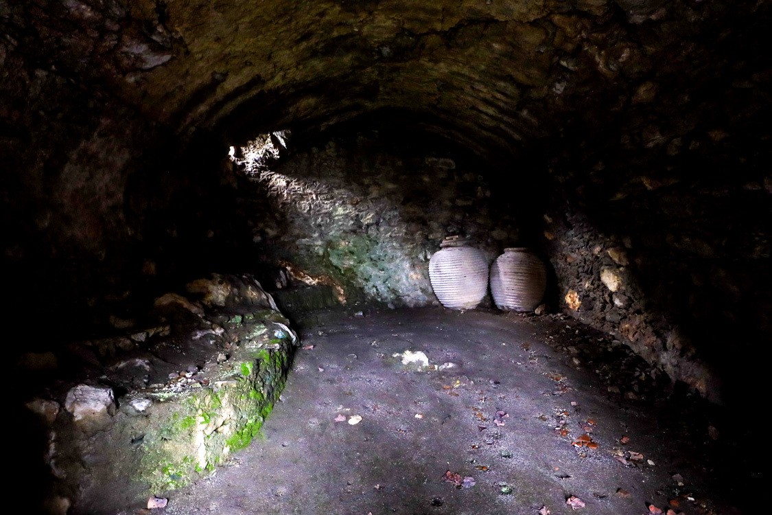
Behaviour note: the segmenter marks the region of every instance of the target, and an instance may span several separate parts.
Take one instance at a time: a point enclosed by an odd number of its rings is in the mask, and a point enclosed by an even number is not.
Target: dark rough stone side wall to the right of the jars
[[[661,116],[650,123],[668,123]],[[560,309],[726,401],[764,374],[753,356],[772,334],[772,180],[764,130],[720,127],[604,154],[595,149],[615,137],[567,149],[548,166],[543,243]],[[610,134],[624,142],[638,128]]]

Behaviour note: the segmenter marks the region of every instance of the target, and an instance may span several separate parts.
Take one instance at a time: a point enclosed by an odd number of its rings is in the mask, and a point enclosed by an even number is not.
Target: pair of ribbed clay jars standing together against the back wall
[[[452,310],[471,310],[488,293],[499,310],[533,311],[547,288],[547,269],[525,247],[510,247],[488,262],[480,249],[458,237],[446,238],[429,259],[429,280],[437,299]]]

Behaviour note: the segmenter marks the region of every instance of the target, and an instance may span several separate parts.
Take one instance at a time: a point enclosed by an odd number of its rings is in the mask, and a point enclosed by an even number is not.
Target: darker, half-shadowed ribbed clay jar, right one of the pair
[[[490,293],[499,310],[533,311],[547,290],[547,269],[525,247],[510,247],[490,267]]]

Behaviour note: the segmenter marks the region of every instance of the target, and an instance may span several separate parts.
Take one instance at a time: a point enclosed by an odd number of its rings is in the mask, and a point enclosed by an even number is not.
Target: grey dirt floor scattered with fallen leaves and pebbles
[[[748,502],[753,473],[720,413],[567,317],[350,310],[299,326],[262,437],[166,508],[124,513],[692,515]]]

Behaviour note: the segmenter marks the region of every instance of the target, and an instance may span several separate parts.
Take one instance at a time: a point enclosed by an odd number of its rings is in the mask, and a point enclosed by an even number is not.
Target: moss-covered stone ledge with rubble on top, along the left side
[[[235,284],[219,306],[179,296],[166,326],[71,346],[90,352],[90,370],[27,401],[48,428],[49,512],[116,513],[167,496],[259,435],[299,341],[259,283],[244,296],[244,281],[215,280]]]

